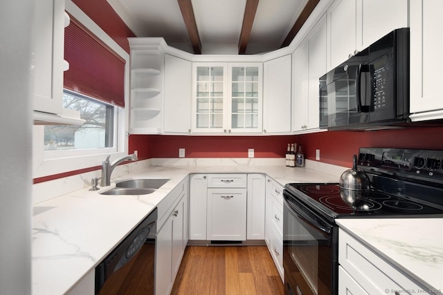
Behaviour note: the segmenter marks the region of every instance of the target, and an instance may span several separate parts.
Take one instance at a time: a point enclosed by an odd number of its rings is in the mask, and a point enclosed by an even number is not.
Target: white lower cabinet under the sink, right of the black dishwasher
[[[170,294],[175,276],[180,267],[181,258],[188,243],[188,178],[183,180],[163,201],[174,199],[167,210],[167,218],[157,223],[155,294]],[[179,194],[177,194],[177,191]],[[159,204],[162,207],[163,201]],[[160,220],[160,218],[159,218]]]

